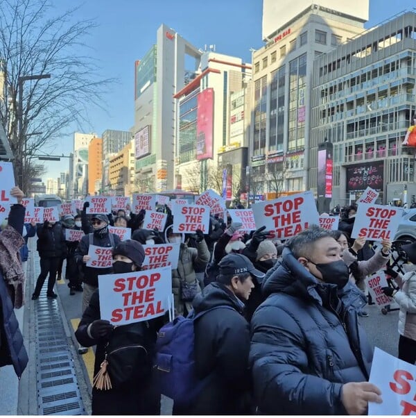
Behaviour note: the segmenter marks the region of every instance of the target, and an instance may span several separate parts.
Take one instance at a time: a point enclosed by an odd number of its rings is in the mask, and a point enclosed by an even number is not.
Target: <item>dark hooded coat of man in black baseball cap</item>
[[[228,415],[250,412],[250,326],[243,317],[244,305],[220,283],[205,287],[193,300],[195,313],[217,308],[197,319],[195,360],[198,378],[205,387],[187,410],[175,414]]]

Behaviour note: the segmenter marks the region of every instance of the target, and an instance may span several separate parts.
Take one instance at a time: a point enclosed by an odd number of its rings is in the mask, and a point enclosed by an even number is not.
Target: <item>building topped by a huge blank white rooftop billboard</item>
[[[263,0],[265,46],[252,54],[250,194],[306,190],[313,61],[364,31],[368,0]]]

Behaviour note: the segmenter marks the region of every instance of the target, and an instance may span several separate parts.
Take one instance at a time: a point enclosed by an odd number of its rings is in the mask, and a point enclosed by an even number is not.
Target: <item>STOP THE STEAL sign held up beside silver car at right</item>
[[[402,215],[403,208],[360,203],[351,237],[365,237],[372,241],[392,241]]]

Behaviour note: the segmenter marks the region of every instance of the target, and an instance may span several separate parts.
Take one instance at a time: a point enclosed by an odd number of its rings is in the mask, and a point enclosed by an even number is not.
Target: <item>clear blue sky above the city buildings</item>
[[[275,0],[281,1],[281,0]],[[98,27],[87,39],[89,54],[103,78],[116,78],[103,96],[103,106],[89,110],[88,132],[100,136],[106,129],[128,131],[134,124],[134,68],[156,42],[157,28],[164,23],[198,48],[215,44],[218,53],[251,62],[250,49],[263,46],[261,0],[52,0],[61,13],[80,6],[74,19],[94,19]],[[415,8],[415,0],[370,0],[370,20],[365,28],[380,24],[397,13]],[[414,9],[416,11],[416,9]],[[52,74],[53,76],[53,74]],[[78,131],[78,126],[71,126]],[[69,155],[73,135],[55,142],[53,154]],[[50,153],[50,152],[49,152]],[[68,169],[68,160],[48,161],[46,178],[57,178]]]

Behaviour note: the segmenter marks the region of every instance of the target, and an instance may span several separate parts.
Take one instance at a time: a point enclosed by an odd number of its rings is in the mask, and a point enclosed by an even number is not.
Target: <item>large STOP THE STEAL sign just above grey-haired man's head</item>
[[[275,238],[288,238],[309,226],[319,225],[319,214],[312,192],[292,194],[252,206],[256,227],[266,226]]]

